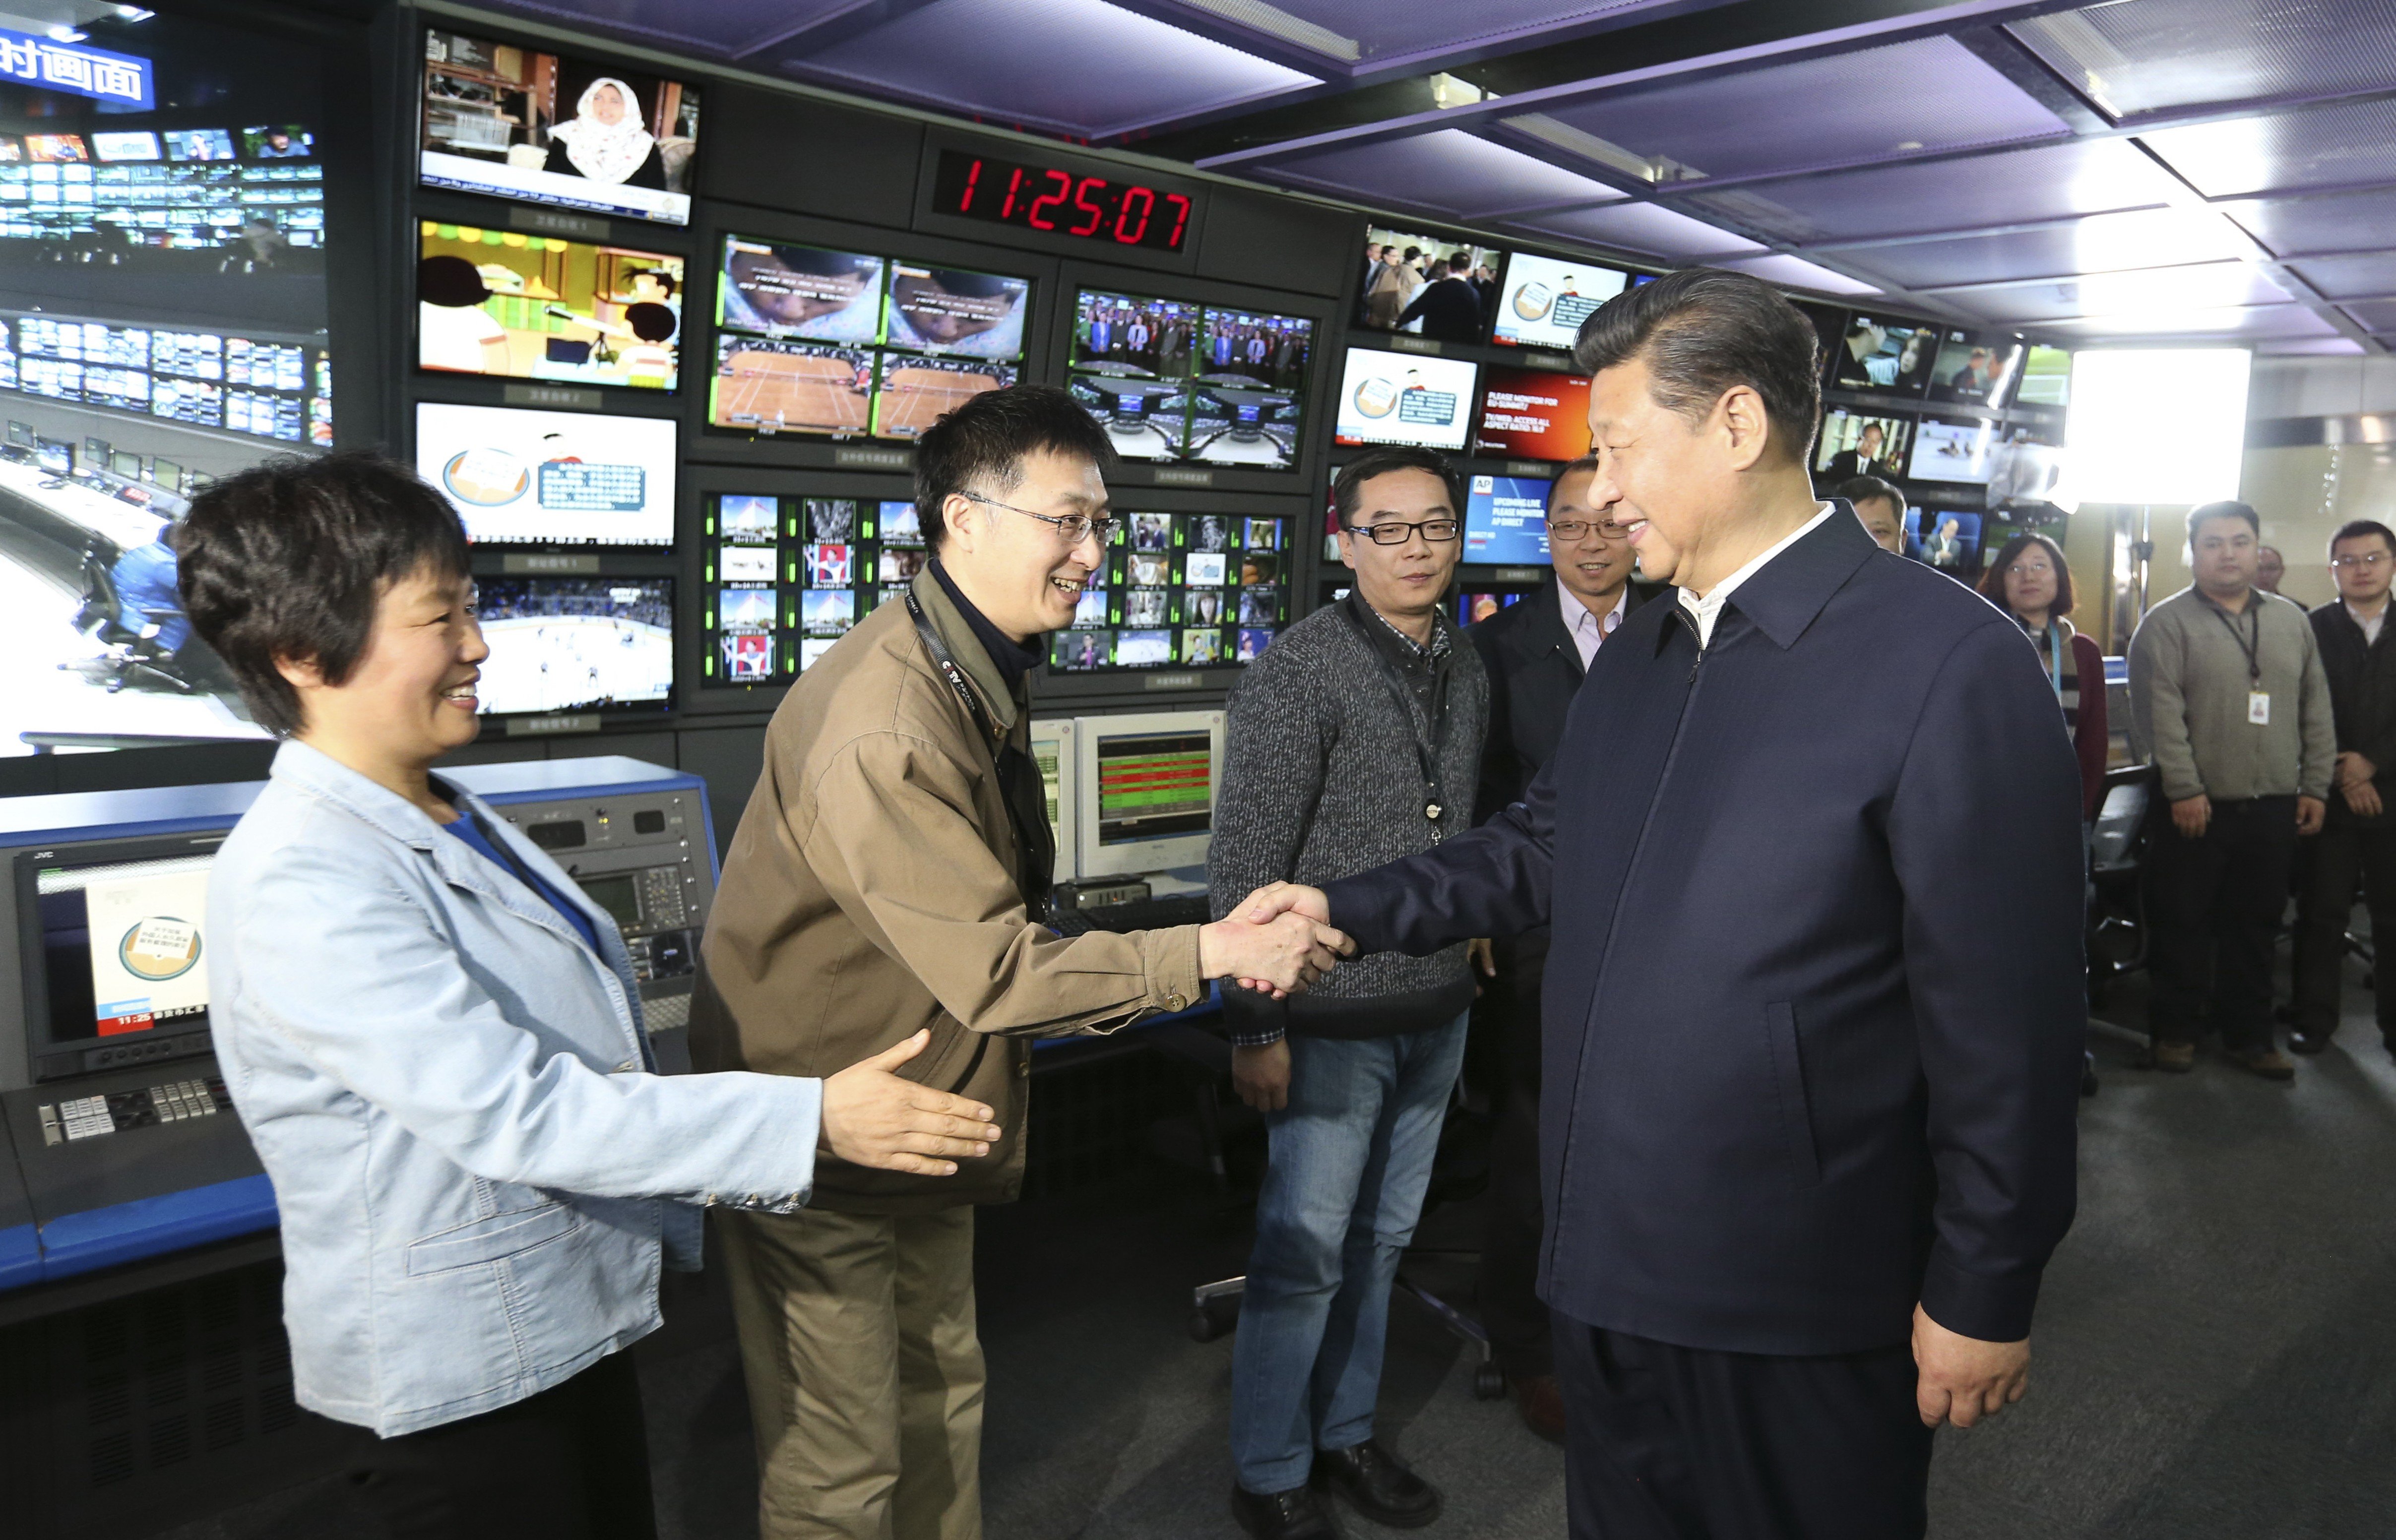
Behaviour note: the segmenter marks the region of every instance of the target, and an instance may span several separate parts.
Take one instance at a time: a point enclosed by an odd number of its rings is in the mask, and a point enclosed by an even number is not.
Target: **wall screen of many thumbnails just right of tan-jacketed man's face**
[[[1282,520],[1126,513],[1049,668],[1212,668],[1265,651],[1289,618]]]

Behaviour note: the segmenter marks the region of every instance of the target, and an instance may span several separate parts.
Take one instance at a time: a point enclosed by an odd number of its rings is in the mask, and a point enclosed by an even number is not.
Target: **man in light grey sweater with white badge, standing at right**
[[[2322,831],[2338,738],[2305,611],[2255,587],[2259,534],[2245,503],[2190,513],[2197,582],[2130,639],[2132,738],[2171,810],[2147,850],[2147,1027],[2154,1068],[2185,1073],[2209,994],[2228,1056],[2293,1080],[2271,1044],[2271,953],[2295,838]]]

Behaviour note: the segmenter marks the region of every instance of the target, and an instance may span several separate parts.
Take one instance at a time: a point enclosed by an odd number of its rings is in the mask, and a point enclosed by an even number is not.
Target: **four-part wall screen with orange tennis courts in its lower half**
[[[1028,278],[728,235],[707,422],[915,438],[1016,383],[1028,311]]]

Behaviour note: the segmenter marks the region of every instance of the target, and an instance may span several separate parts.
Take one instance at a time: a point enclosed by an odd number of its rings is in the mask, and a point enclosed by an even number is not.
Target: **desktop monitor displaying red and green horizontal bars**
[[[1076,872],[1131,877],[1205,862],[1222,730],[1222,711],[1076,716]]]

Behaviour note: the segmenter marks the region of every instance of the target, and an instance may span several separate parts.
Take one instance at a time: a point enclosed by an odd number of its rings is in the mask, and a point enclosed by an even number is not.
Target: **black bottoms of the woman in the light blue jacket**
[[[630,1353],[441,1427],[352,1432],[350,1483],[393,1540],[657,1540]]]

